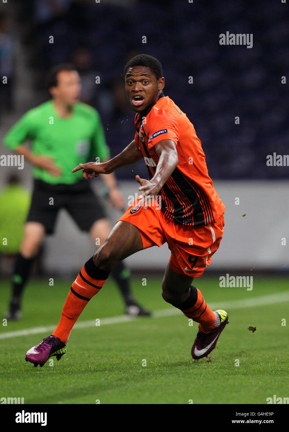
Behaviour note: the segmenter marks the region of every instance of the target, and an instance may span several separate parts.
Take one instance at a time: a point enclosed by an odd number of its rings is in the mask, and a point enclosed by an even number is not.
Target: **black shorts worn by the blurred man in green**
[[[39,222],[47,234],[52,234],[60,209],[67,210],[82,231],[89,231],[96,220],[107,217],[88,180],[75,184],[49,184],[34,179],[26,222]]]

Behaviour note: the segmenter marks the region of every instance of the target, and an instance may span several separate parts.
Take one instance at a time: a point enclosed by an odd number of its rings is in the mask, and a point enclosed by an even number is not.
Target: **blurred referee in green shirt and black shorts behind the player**
[[[102,245],[111,226],[88,183],[71,172],[71,166],[87,162],[88,156],[109,159],[109,148],[98,112],[79,102],[81,82],[72,65],[53,67],[48,73],[48,102],[28,111],[6,134],[4,143],[34,165],[34,189],[25,224],[25,234],[12,275],[12,299],[6,318],[21,318],[25,283],[45,234],[52,234],[61,208],[68,211],[78,227]],[[25,141],[32,141],[32,149]],[[124,200],[114,174],[103,176],[112,204],[122,209]],[[112,276],[129,315],[149,315],[137,304],[130,288],[129,270],[119,263]]]

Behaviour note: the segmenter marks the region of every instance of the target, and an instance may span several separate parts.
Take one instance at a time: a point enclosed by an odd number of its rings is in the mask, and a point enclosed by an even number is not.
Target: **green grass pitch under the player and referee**
[[[254,275],[253,275],[254,276]],[[142,278],[147,278],[142,286]],[[143,274],[132,280],[137,300],[153,311],[174,309],[162,299],[162,278]],[[72,279],[31,281],[23,300],[21,322],[0,326],[6,332],[57,324]],[[283,276],[253,278],[253,289],[220,288],[217,276],[194,280],[210,305],[257,299],[289,292]],[[9,298],[9,281],[0,283],[1,321]],[[265,301],[266,303],[266,301]],[[24,397],[25,403],[95,404],[266,404],[267,397],[288,396],[288,301],[226,308],[230,323],[210,358],[190,356],[198,324],[182,314],[103,325],[104,317],[124,313],[118,289],[107,281],[78,322],[100,319],[100,326],[75,328],[68,350],[54,365],[34,368],[25,353],[48,332],[0,339],[0,394]],[[281,325],[282,319],[288,325]],[[284,321],[283,321],[284,323]],[[256,326],[252,333],[249,325]],[[236,360],[239,366],[236,366]],[[146,360],[146,366],[144,360]]]

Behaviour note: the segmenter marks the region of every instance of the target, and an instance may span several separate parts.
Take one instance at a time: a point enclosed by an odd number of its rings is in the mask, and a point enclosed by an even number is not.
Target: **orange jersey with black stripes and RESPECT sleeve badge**
[[[195,128],[177,105],[161,95],[144,118],[134,120],[135,141],[143,154],[149,178],[155,175],[159,156],[155,144],[161,140],[176,143],[179,163],[159,194],[164,216],[180,225],[204,226],[214,223],[225,206],[208,175],[205,154]]]

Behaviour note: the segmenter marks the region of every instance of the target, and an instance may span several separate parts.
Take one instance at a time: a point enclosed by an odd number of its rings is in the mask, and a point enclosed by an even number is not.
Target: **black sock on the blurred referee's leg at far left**
[[[24,286],[26,284],[26,281],[28,279],[31,266],[33,264],[34,257],[33,258],[25,258],[22,256],[22,254],[17,254],[15,265],[14,265],[14,271],[12,273],[12,299],[10,307],[13,306],[18,308],[22,292],[24,289]]]

